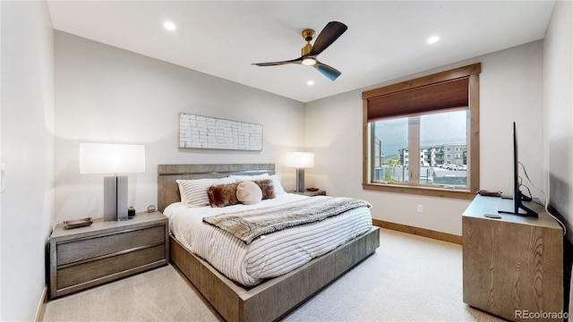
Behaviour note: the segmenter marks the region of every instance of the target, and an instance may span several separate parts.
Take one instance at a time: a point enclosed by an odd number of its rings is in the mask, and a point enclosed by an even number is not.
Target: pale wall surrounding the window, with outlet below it
[[[543,43],[536,41],[458,64],[389,80],[379,88],[434,72],[482,63],[480,74],[480,187],[512,189],[512,122],[519,135],[519,159],[535,185],[543,178]],[[346,195],[372,203],[376,219],[461,235],[461,214],[469,201],[362,189],[362,99],[357,89],[306,105],[306,146],[316,153],[307,169],[309,184],[329,195]],[[312,183],[311,183],[312,182]],[[541,197],[531,184],[532,192]],[[423,214],[416,206],[424,206]]]

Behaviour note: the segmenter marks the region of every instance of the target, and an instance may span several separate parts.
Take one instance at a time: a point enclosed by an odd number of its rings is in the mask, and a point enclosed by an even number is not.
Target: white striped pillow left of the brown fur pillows
[[[212,185],[235,183],[232,178],[220,179],[195,179],[195,180],[176,180],[179,184],[179,193],[181,202],[186,207],[203,207],[209,206],[209,195],[207,190]]]

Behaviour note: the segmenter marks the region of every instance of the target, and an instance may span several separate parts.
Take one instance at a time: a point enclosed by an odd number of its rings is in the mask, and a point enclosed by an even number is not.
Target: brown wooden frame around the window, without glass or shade
[[[414,80],[406,80],[397,84],[381,87],[379,89],[371,89],[362,93],[363,99],[363,190],[370,191],[388,191],[398,193],[408,193],[424,196],[453,198],[453,199],[473,199],[475,193],[479,191],[479,178],[480,178],[480,123],[479,123],[479,73],[482,70],[482,64],[471,64],[457,69],[449,70],[446,72],[439,72],[428,76],[423,76]],[[368,118],[368,102],[371,99],[384,97],[389,95],[397,95],[411,91],[413,89],[421,89],[429,87],[438,83],[458,80],[460,78],[468,79],[468,103],[469,110],[469,129],[467,135],[467,150],[469,153],[468,175],[467,175],[467,189],[456,190],[446,189],[441,187],[431,187],[422,185],[407,185],[407,184],[385,184],[378,182],[370,182],[370,162],[369,162],[369,118]],[[441,108],[440,108],[441,109]],[[413,114],[402,114],[394,116],[408,117]],[[372,120],[371,120],[372,122]]]

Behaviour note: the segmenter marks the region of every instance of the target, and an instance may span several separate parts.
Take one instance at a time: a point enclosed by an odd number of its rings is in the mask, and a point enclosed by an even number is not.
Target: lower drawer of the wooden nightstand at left
[[[64,266],[57,270],[57,288],[59,290],[76,284],[91,282],[101,277],[164,260],[165,253],[165,243],[162,243],[143,250]]]

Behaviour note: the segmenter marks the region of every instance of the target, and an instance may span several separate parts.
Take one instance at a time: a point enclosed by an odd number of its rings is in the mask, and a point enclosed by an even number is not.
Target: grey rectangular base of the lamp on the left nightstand
[[[127,219],[127,176],[104,177],[104,221]]]

